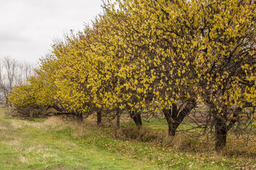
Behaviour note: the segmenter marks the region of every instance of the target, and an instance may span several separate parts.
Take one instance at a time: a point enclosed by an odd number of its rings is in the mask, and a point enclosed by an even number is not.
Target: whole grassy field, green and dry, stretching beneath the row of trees
[[[132,140],[120,135],[132,123],[117,131],[97,127],[94,120],[18,120],[6,112],[0,108],[0,169],[256,169],[255,136],[242,147],[231,135],[228,147],[215,153],[204,151],[200,140],[164,137],[160,119],[144,123],[141,133],[148,135]],[[161,142],[142,142],[152,136],[149,130],[163,133]]]

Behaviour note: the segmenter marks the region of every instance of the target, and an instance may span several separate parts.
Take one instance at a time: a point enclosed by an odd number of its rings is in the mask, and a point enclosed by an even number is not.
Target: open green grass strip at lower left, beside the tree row
[[[96,147],[92,135],[74,137],[65,124],[41,127],[35,121],[5,118],[1,111],[0,125],[0,169],[157,169]]]

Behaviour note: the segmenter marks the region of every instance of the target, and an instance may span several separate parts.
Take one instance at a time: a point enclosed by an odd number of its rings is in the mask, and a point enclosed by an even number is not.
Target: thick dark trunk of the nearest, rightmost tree
[[[227,142],[228,128],[225,121],[221,118],[215,118],[215,150],[225,147]]]

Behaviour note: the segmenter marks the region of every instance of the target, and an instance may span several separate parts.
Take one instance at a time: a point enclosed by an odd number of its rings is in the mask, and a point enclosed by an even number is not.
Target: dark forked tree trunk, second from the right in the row
[[[190,113],[190,111],[196,107],[196,101],[191,100],[188,101],[186,106],[182,108],[181,111],[178,111],[178,106],[176,104],[172,104],[171,109],[164,109],[164,116],[166,118],[168,124],[168,135],[175,136],[178,125],[186,118],[186,115]]]

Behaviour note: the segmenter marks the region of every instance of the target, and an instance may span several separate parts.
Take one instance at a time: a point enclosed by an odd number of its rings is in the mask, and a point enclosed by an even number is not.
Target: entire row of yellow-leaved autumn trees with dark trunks
[[[54,43],[29,84],[16,86],[19,108],[56,108],[82,120],[164,113],[169,135],[198,104],[215,149],[228,131],[254,121],[256,12],[252,0],[116,0],[104,14]],[[246,115],[246,116],[245,116]],[[194,116],[195,118],[196,116]]]

